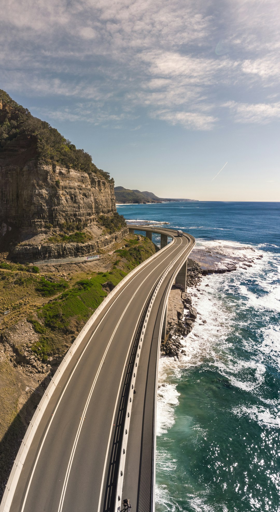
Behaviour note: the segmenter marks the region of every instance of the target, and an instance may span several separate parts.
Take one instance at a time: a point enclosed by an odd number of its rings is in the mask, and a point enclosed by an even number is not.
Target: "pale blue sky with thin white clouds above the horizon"
[[[116,186],[280,201],[278,0],[6,0],[0,45],[0,88]]]

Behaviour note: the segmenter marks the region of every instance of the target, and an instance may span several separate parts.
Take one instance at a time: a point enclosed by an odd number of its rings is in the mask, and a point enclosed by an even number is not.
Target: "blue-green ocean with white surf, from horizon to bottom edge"
[[[161,357],[157,512],[280,511],[280,203],[119,205],[168,222],[198,247],[263,255],[190,289],[195,323],[180,361]]]

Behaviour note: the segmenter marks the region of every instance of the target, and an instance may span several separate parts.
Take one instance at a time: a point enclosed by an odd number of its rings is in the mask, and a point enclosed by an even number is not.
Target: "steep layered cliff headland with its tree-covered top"
[[[2,90],[0,169],[0,250],[13,261],[87,254],[127,233],[109,174]]]

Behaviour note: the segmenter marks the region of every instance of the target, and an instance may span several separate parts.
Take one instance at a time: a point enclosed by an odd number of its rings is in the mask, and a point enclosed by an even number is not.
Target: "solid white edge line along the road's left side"
[[[181,242],[181,243],[180,243],[180,245],[181,245],[181,244],[182,244],[182,241],[180,240],[180,242]],[[154,270],[156,270],[156,269],[159,267],[159,265],[161,265],[161,264],[162,264],[162,263],[163,263],[163,262],[164,262],[168,257],[170,257],[170,255],[171,255],[171,254],[173,254],[173,252],[175,252],[175,250],[177,250],[177,249],[178,249],[178,246],[176,246],[176,248],[174,248],[174,249],[173,249],[173,251],[171,251],[171,253],[170,253],[170,254],[168,254],[168,255],[166,256],[166,258],[164,258],[164,259],[163,259],[163,260],[162,260],[162,261],[161,261],[161,262],[160,262],[160,263],[159,263],[159,264],[158,264],[158,265],[157,265],[157,266],[156,266],[156,267],[155,267],[155,268],[154,268],[154,269],[153,269],[153,270],[152,270],[152,271],[151,271],[151,272],[146,276],[146,278],[144,279],[144,281],[142,281],[142,283],[141,283],[141,285],[139,286],[139,288],[140,288],[140,287],[142,286],[142,284],[146,281],[146,279],[149,277],[149,275],[150,275],[150,274],[152,274],[152,273],[154,272]],[[155,262],[155,260],[153,260],[152,262],[149,262],[147,266],[151,265],[151,264],[152,264],[152,263],[154,263],[154,262]],[[121,292],[120,292],[120,293],[118,294],[118,296],[115,298],[114,302],[112,302],[111,306],[107,309],[107,311],[105,312],[105,314],[104,314],[104,315],[103,315],[103,317],[101,318],[101,320],[100,320],[99,324],[96,326],[96,328],[95,328],[94,332],[92,333],[92,335],[91,335],[91,337],[90,337],[90,339],[89,339],[89,341],[88,341],[87,345],[85,345],[85,347],[84,347],[84,349],[83,349],[83,351],[82,351],[82,353],[81,353],[81,355],[80,355],[80,357],[79,357],[79,359],[78,359],[78,361],[77,361],[77,363],[76,363],[76,366],[75,366],[75,368],[73,369],[73,371],[72,371],[72,373],[71,373],[71,375],[70,375],[70,377],[69,377],[69,379],[68,379],[68,381],[67,381],[67,383],[66,383],[66,386],[64,387],[64,389],[63,389],[63,391],[62,391],[62,393],[61,393],[61,396],[60,396],[60,398],[59,398],[59,400],[58,400],[58,402],[57,402],[56,408],[55,408],[55,410],[54,410],[54,412],[53,412],[53,414],[52,414],[52,417],[51,417],[50,423],[49,423],[48,428],[47,428],[47,430],[46,430],[45,436],[44,436],[44,438],[43,438],[43,440],[42,440],[42,443],[41,443],[40,449],[39,449],[39,451],[38,451],[38,455],[37,455],[37,457],[36,457],[36,461],[35,461],[35,464],[34,464],[34,467],[33,467],[32,473],[31,473],[31,477],[30,477],[30,480],[29,480],[29,483],[28,483],[28,487],[27,487],[27,490],[26,490],[26,495],[25,495],[25,499],[24,499],[24,502],[23,502],[23,506],[22,506],[22,508],[21,508],[21,512],[23,512],[23,511],[24,511],[25,504],[26,504],[26,501],[27,501],[27,496],[28,496],[29,489],[30,489],[30,486],[31,486],[31,482],[32,482],[32,479],[33,479],[33,476],[34,476],[34,473],[35,473],[36,466],[37,466],[37,462],[38,462],[38,460],[39,460],[39,456],[40,456],[40,453],[41,453],[41,451],[42,451],[42,447],[43,447],[43,445],[44,445],[44,443],[45,443],[46,437],[47,437],[47,435],[48,435],[48,432],[49,432],[49,430],[50,430],[51,424],[52,424],[52,422],[53,422],[53,419],[54,419],[55,413],[56,413],[56,411],[57,411],[57,409],[58,409],[58,407],[59,407],[59,404],[60,404],[60,402],[61,402],[61,400],[62,400],[62,398],[63,398],[64,393],[66,392],[66,390],[67,390],[67,388],[68,388],[68,385],[69,385],[69,383],[70,383],[70,381],[71,381],[71,379],[72,379],[72,376],[74,375],[74,372],[75,372],[75,370],[76,370],[76,368],[77,368],[77,366],[78,366],[79,362],[80,362],[80,361],[81,361],[81,359],[82,359],[82,356],[83,356],[83,354],[84,354],[85,350],[87,350],[87,348],[88,348],[89,344],[91,343],[91,340],[92,340],[92,338],[93,338],[94,334],[96,333],[96,331],[97,331],[97,329],[99,328],[100,324],[103,322],[103,320],[104,320],[105,316],[107,315],[107,313],[109,313],[110,309],[111,309],[111,308],[112,308],[112,306],[115,304],[115,302],[117,301],[117,299],[119,298],[119,296],[120,296],[120,295],[122,294],[122,292],[127,288],[127,286],[128,286],[128,285],[130,285],[130,284],[134,281],[134,279],[136,279],[136,277],[137,277],[137,276],[139,276],[139,274],[140,274],[143,270],[145,270],[146,268],[147,268],[147,267],[143,267],[143,268],[140,270],[140,272],[139,272],[138,274],[136,274],[136,275],[133,277],[133,279],[132,279],[131,281],[129,281],[129,282],[127,283],[127,285],[126,285],[126,286],[121,290]],[[139,289],[139,288],[138,288],[138,289]],[[137,289],[137,291],[138,291],[138,289]],[[136,294],[136,292],[135,292],[135,294]],[[135,294],[134,294],[134,295],[135,295]],[[134,298],[134,295],[133,295],[132,299]],[[131,300],[132,300],[132,299],[131,299]],[[100,368],[100,365],[99,365],[99,368]],[[100,370],[99,370],[99,368],[98,368],[98,370],[97,370],[97,371],[100,371]]]

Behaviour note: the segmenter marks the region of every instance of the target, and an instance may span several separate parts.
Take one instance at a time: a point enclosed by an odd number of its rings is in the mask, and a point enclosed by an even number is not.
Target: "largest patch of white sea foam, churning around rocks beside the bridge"
[[[198,240],[197,246],[222,249],[224,254],[234,255],[236,252],[251,257],[259,257],[260,251],[251,245],[228,241]],[[267,273],[272,275],[268,280]],[[280,366],[280,331],[275,328],[263,329],[264,342],[260,345],[259,356],[251,357],[249,361],[239,359],[232,349],[229,336],[232,334],[235,322],[235,306],[244,309],[254,307],[263,310],[280,310],[280,291],[277,283],[271,284],[271,280],[279,276],[276,255],[265,253],[263,259],[254,260],[252,267],[247,270],[238,269],[226,274],[209,274],[203,278],[198,288],[188,291],[192,295],[192,304],[200,313],[191,333],[181,339],[185,355],[180,356],[180,361],[170,357],[161,357],[159,362],[159,386],[160,398],[158,399],[157,432],[161,435],[174,424],[174,411],[178,401],[176,386],[170,384],[170,376],[179,376],[182,369],[201,365],[204,360],[210,358],[219,368],[219,372],[226,376],[231,384],[248,392],[257,392],[257,388],[264,381],[265,365],[264,354],[270,354]],[[246,283],[246,280],[249,282]],[[266,295],[258,296],[249,290],[250,282],[255,280],[261,288],[267,291]],[[244,284],[245,283],[245,284]],[[208,285],[208,286],[206,286]],[[225,293],[232,295],[232,301],[226,300]],[[244,301],[240,301],[240,295]],[[235,298],[236,297],[236,298]],[[201,319],[207,323],[202,324]],[[244,324],[245,325],[245,324]],[[242,326],[241,326],[242,327]],[[236,334],[235,332],[235,335]],[[244,347],[252,351],[253,342],[243,340]],[[163,384],[166,386],[163,386]]]

